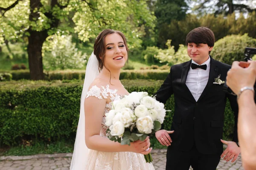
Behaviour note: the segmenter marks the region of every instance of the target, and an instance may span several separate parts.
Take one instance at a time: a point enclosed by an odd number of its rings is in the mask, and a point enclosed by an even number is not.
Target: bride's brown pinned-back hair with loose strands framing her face
[[[112,29],[105,29],[99,33],[99,35],[96,38],[96,41],[94,42],[94,54],[96,55],[98,62],[99,62],[99,70],[101,71],[104,64],[104,59],[105,59],[105,52],[106,52],[106,47],[105,47],[105,38],[109,34],[114,34],[117,33],[119,34],[122,39],[124,40],[125,43],[125,48],[127,52],[129,51],[125,35],[121,31],[115,31]],[[107,68],[108,70],[108,68]],[[108,70],[109,71],[109,70]]]

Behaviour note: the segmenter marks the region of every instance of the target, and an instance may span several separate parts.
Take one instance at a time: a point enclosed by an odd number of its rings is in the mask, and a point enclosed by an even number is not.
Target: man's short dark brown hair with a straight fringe
[[[198,27],[189,32],[186,36],[186,45],[188,43],[195,44],[207,44],[209,47],[213,47],[215,42],[215,37],[212,32],[207,27]],[[211,51],[209,51],[210,54]]]

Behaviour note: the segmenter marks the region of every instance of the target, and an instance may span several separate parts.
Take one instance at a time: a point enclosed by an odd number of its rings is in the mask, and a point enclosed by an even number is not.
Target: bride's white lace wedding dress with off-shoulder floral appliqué
[[[117,95],[117,90],[111,90],[109,85],[94,85],[87,91],[88,97],[97,97],[98,99],[110,98],[111,102],[106,104],[102,117],[100,136],[106,136],[108,127],[105,125],[105,113],[111,110],[111,104],[114,100],[121,98]],[[143,154],[134,152],[99,152],[89,150],[85,170],[154,170],[152,163],[146,163]]]

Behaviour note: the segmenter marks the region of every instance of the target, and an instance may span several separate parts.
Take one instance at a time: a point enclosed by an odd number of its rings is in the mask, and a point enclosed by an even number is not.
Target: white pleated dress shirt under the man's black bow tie
[[[186,86],[189,88],[189,91],[195,98],[195,101],[198,101],[199,97],[204,91],[204,88],[207,85],[207,82],[209,79],[209,72],[210,72],[210,60],[211,58],[209,57],[206,62],[201,64],[201,65],[204,65],[204,64],[207,65],[206,70],[201,68],[196,68],[196,69],[192,69],[191,67],[189,68],[188,77],[186,79]],[[199,65],[193,60],[192,60],[192,63]]]

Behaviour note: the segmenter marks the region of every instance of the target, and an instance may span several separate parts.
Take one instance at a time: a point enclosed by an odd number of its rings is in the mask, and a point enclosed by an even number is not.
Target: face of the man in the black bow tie
[[[201,65],[209,58],[209,51],[212,51],[212,48],[207,44],[195,44],[192,42],[188,43],[187,52],[193,61]]]

